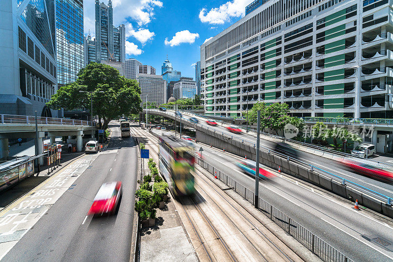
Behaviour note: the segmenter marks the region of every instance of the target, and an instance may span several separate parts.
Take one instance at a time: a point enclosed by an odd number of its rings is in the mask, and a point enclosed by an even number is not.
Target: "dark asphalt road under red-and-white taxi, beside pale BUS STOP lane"
[[[129,261],[138,151],[132,137],[120,138],[118,125],[112,131],[111,150],[92,162],[2,261]],[[111,181],[123,183],[118,213],[86,217],[101,184]]]

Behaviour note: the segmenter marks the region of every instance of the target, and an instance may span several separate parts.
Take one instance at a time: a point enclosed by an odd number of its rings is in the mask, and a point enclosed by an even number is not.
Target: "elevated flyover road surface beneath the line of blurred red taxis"
[[[150,109],[152,110],[152,109]],[[150,111],[149,110],[149,111]],[[158,110],[156,110],[158,111]],[[174,111],[167,110],[167,113],[174,116]],[[245,142],[249,142],[251,144],[256,143],[256,133],[251,132],[251,133],[246,133],[243,132],[241,134],[233,134],[231,132],[228,132],[225,128],[227,125],[222,125],[219,124],[216,127],[211,127],[208,126],[205,121],[206,118],[196,116],[187,112],[182,112],[183,117],[187,120],[191,116],[196,117],[199,119],[199,124],[198,125],[203,125],[204,127],[209,127],[209,129],[214,129],[218,132],[223,132],[224,134],[227,135],[233,135],[233,137],[239,137],[241,139],[244,139]],[[264,140],[263,135],[261,136],[261,148],[265,147],[268,149],[274,150],[274,145],[271,141]],[[342,177],[346,180],[352,181],[354,183],[358,183],[362,186],[365,186],[371,190],[374,190],[378,193],[384,194],[388,197],[393,198],[393,183],[386,182],[386,181],[381,181],[377,180],[371,177],[367,177],[358,173],[355,173],[351,170],[346,170],[343,168],[342,165],[340,165],[337,161],[331,160],[325,157],[320,157],[311,153],[307,153],[304,151],[297,151],[298,157],[296,157],[298,160],[301,160],[307,164],[313,165],[315,167],[321,168],[327,172],[330,172],[336,176]]]

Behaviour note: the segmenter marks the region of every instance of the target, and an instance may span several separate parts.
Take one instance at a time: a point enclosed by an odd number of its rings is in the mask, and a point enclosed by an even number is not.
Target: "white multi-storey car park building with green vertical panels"
[[[392,0],[270,0],[200,48],[207,114],[393,118]]]

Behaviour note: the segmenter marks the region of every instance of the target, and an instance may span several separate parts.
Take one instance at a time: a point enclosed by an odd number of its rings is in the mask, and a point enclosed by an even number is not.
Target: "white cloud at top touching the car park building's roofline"
[[[224,24],[233,17],[244,16],[246,13],[246,5],[250,2],[250,0],[232,0],[220,5],[220,7],[212,8],[209,11],[203,8],[199,12],[199,19],[202,23],[214,25]]]

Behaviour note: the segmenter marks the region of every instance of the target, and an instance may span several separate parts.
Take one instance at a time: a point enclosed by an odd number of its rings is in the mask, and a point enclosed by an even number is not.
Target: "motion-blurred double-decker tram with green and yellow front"
[[[194,193],[194,148],[187,141],[175,136],[159,137],[160,172],[173,194]]]

